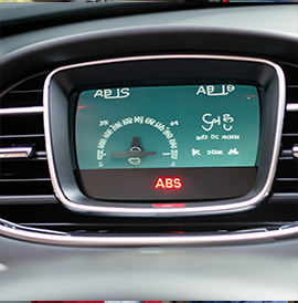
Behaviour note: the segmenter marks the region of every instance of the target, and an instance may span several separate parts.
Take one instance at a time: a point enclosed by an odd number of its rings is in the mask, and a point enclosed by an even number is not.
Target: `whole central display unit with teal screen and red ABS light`
[[[50,75],[49,164],[61,200],[79,203],[78,211],[211,215],[269,192],[285,86],[275,63],[147,55]],[[156,210],[178,206],[183,210]]]

